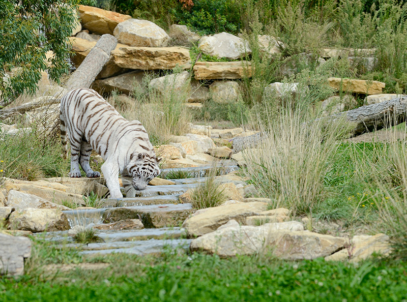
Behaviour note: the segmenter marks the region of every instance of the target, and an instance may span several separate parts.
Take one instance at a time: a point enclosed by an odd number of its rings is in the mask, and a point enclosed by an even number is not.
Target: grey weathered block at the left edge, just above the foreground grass
[[[31,240],[0,233],[0,274],[18,276],[24,273],[24,258],[31,256]]]

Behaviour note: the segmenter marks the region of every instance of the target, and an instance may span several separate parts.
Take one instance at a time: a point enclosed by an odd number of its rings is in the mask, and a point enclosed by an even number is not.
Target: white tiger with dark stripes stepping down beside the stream
[[[146,129],[138,120],[129,122],[93,89],[74,89],[61,99],[61,142],[68,156],[66,135],[71,143],[70,177],[99,177],[89,165],[92,149],[105,160],[102,172],[111,198],[123,197],[119,174],[133,177],[136,190],[144,190],[160,173]]]

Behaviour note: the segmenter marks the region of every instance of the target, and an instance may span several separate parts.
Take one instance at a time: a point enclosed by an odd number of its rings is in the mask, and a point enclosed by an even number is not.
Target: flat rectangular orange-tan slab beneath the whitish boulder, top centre
[[[250,62],[196,62],[194,75],[197,80],[241,79],[251,77]]]

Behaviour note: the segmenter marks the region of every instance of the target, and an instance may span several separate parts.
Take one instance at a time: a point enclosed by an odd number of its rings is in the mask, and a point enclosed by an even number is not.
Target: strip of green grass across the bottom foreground
[[[101,270],[73,269],[46,280],[0,279],[3,301],[401,301],[407,263],[278,261],[209,255],[113,254]]]

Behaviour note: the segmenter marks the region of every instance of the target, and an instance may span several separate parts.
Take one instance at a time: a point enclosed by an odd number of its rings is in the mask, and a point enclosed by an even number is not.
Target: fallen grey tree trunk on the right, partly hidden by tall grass
[[[395,98],[377,104],[361,106],[356,109],[328,116],[327,119],[341,118],[350,123],[350,137],[355,137],[366,132],[372,132],[383,128],[389,128],[406,121],[407,97]],[[237,137],[232,140],[234,153],[245,148],[257,146],[261,140],[267,137],[266,132],[258,132],[245,137]]]

